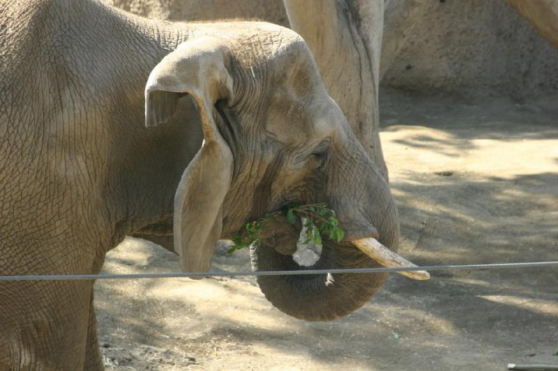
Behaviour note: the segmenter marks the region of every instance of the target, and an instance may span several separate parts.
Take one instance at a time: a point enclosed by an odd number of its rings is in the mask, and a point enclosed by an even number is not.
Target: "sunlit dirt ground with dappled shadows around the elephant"
[[[556,100],[458,102],[382,92],[382,143],[418,265],[558,260]],[[220,246],[216,271],[250,269]],[[105,272],[179,271],[140,239]],[[361,310],[303,322],[252,278],[99,281],[107,370],[505,370],[558,365],[558,268],[392,274]]]

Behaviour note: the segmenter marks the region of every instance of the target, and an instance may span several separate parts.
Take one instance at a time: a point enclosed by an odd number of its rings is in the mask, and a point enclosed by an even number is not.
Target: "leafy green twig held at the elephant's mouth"
[[[340,242],[345,232],[339,228],[339,221],[335,216],[335,211],[329,209],[325,203],[315,203],[307,205],[291,204],[283,207],[282,210],[267,214],[263,219],[251,221],[244,225],[241,235],[232,237],[234,246],[229,248],[227,253],[234,253],[236,250],[250,246],[259,242],[259,234],[265,228],[268,221],[272,221],[276,216],[283,214],[289,224],[296,223],[296,218],[304,218],[303,228],[306,230],[306,239],[303,244],[314,242],[322,244],[322,235],[328,239]]]

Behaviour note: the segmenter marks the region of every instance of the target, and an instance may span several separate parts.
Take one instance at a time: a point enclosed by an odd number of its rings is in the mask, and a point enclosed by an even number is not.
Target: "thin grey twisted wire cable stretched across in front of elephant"
[[[518,262],[500,264],[470,265],[425,265],[423,267],[377,267],[347,269],[303,269],[300,271],[211,271],[205,273],[137,273],[137,274],[53,274],[53,275],[22,275],[0,276],[0,281],[64,281],[64,280],[116,280],[142,278],[204,278],[204,277],[243,277],[243,276],[301,276],[312,274],[363,274],[389,273],[400,271],[457,271],[467,269],[518,269],[535,267],[558,267],[556,262]]]

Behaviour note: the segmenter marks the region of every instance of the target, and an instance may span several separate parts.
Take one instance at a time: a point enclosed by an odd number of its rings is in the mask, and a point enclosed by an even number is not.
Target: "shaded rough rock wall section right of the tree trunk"
[[[558,92],[558,49],[504,0],[428,0],[382,86],[516,100]]]

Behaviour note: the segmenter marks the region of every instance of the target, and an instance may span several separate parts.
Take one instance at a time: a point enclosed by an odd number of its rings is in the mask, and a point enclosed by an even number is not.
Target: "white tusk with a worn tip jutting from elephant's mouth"
[[[402,258],[386,246],[380,244],[375,238],[355,239],[351,243],[384,267],[417,267],[412,262],[409,262],[409,260]],[[398,273],[414,280],[428,280],[430,278],[428,271],[400,271]]]

